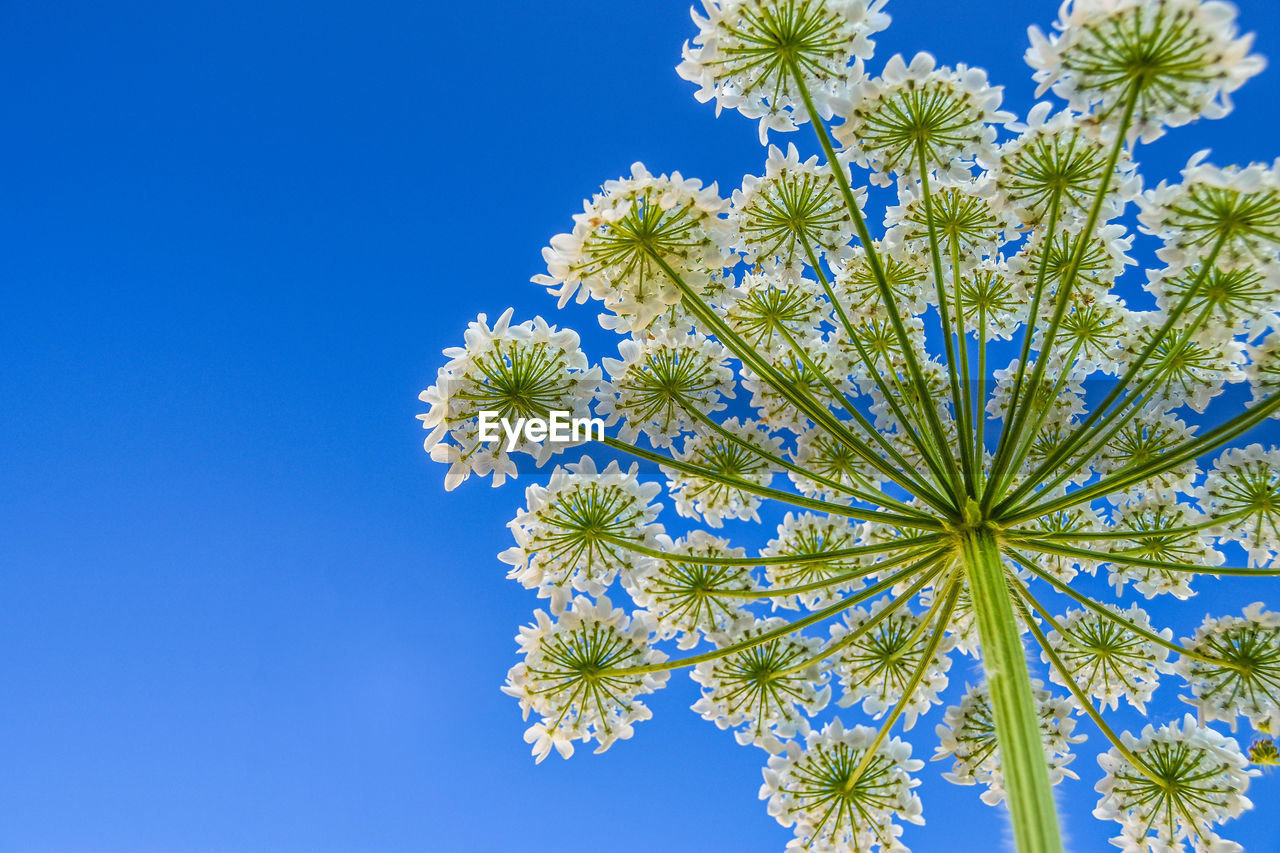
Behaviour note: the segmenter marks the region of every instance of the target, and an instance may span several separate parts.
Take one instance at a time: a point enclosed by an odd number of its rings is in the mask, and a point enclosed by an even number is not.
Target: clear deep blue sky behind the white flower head
[[[1239,6],[1280,55],[1274,0]],[[1056,4],[890,10],[873,67],[928,49],[1032,104]],[[602,181],[760,168],[676,77],[691,33],[667,0],[4,4],[0,852],[782,848],[762,753],[682,678],[634,740],[534,766],[498,690],[534,606],[494,558],[522,484],[445,494],[413,419],[476,313],[554,314],[527,279]],[[1144,149],[1148,181],[1271,160],[1277,85]],[[612,355],[593,310],[558,321]],[[1098,742],[1076,850],[1112,831]],[[992,849],[1001,815],[938,770],[908,843]],[[1266,813],[1226,835],[1280,852]]]

